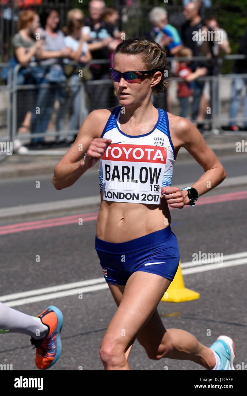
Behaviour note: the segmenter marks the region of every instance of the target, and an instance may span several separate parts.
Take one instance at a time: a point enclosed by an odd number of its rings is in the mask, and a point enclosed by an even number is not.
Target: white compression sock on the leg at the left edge
[[[0,333],[27,334],[39,340],[46,335],[47,330],[48,327],[41,322],[40,318],[24,314],[0,303]]]

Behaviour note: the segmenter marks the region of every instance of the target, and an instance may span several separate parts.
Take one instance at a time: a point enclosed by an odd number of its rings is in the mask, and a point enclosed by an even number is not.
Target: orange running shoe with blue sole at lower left
[[[62,344],[60,332],[63,327],[63,314],[54,305],[38,315],[38,318],[48,327],[46,337],[37,340],[31,337],[31,344],[36,347],[35,364],[40,370],[46,370],[57,361],[61,354]]]

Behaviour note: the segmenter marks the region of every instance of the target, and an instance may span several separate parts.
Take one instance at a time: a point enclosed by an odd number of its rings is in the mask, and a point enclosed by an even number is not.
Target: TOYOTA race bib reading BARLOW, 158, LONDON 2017
[[[110,144],[102,161],[103,199],[160,205],[166,147]]]

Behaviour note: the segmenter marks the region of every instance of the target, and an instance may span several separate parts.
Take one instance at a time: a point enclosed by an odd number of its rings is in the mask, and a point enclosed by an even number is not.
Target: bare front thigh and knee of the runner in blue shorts
[[[149,272],[134,272],[103,340],[100,356],[105,370],[129,370],[127,358],[137,332],[154,313],[170,280]],[[117,298],[117,297],[116,297]]]

